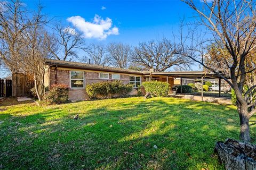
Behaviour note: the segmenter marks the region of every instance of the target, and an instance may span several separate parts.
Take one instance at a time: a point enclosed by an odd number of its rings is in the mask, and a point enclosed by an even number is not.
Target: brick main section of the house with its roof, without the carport
[[[135,95],[136,87],[146,81],[141,71],[59,60],[47,60],[46,65],[45,87],[55,83],[67,84],[70,87],[70,100],[87,99],[86,84],[121,80],[124,84],[134,84],[131,95]]]

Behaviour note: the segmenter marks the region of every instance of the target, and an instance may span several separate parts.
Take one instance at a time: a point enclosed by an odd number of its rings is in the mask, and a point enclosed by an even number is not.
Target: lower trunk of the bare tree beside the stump
[[[240,139],[244,142],[251,141],[249,118],[247,118],[247,107],[243,108],[240,104],[237,105],[237,111],[240,118]]]

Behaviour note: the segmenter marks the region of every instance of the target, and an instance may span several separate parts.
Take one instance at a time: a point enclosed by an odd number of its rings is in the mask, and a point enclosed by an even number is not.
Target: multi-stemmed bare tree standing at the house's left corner
[[[37,97],[39,100],[43,100],[45,61],[50,54],[47,46],[51,40],[47,32],[39,28],[36,23],[33,28],[26,31],[25,40],[27,45],[22,49],[20,55],[22,61],[18,65],[26,73],[33,75]]]

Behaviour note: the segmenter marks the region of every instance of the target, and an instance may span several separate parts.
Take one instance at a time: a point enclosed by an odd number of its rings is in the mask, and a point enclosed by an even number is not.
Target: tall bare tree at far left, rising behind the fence
[[[17,56],[24,44],[22,33],[31,26],[27,10],[20,1],[0,2],[0,57],[11,72],[17,72]]]

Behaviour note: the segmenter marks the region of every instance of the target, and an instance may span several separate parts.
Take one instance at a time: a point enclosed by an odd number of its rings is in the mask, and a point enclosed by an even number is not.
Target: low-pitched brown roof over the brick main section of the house
[[[102,66],[102,65],[95,65],[95,64],[61,61],[61,60],[49,59],[46,61],[46,64],[50,66],[65,67],[70,69],[83,69],[83,70],[106,71],[106,72],[117,72],[117,73],[127,73],[127,74],[139,74],[139,75],[143,74],[142,71],[120,69],[116,67]]]

